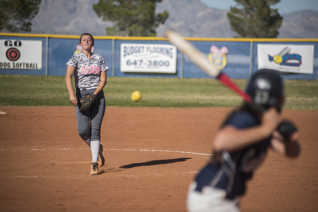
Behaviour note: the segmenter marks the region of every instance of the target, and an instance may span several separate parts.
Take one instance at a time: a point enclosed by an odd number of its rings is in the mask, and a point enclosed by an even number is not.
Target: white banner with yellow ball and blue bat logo
[[[313,73],[314,45],[257,44],[257,68]]]

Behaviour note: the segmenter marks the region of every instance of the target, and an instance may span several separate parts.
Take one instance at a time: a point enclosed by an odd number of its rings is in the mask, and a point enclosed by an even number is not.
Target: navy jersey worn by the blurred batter
[[[247,111],[232,115],[226,125],[244,129],[259,125],[258,119]],[[228,199],[235,199],[244,194],[246,180],[264,161],[270,138],[259,141],[236,152],[221,152],[221,162],[211,162],[196,176],[197,191],[204,186],[213,186],[227,191]]]

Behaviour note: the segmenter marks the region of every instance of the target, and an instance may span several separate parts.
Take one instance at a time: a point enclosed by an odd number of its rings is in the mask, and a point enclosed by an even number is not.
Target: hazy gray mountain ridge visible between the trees
[[[112,26],[103,21],[92,9],[98,0],[42,0],[40,11],[32,20],[32,34],[105,36],[105,28]],[[228,10],[208,7],[199,0],[162,0],[156,13],[167,10],[169,18],[157,28],[157,37],[171,28],[182,37],[233,38],[227,19]],[[281,14],[283,23],[277,38],[318,38],[318,11],[300,10]]]

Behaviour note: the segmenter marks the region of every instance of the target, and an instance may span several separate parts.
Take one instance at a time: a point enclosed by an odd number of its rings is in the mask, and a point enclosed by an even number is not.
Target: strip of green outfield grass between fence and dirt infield
[[[72,106],[64,76],[0,74],[0,106]],[[244,89],[247,79],[234,79]],[[74,78],[73,78],[74,84]],[[131,93],[142,93],[140,102]],[[115,107],[237,107],[241,98],[216,79],[108,77],[106,105]],[[318,110],[317,80],[286,80],[284,109]]]

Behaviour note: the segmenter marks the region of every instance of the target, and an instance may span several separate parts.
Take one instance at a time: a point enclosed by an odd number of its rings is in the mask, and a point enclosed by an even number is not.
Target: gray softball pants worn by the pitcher
[[[88,93],[94,93],[96,89],[79,90],[76,89],[76,97],[85,97]],[[79,107],[75,107],[76,120],[78,124],[78,133],[82,140],[100,141],[100,128],[105,114],[105,97],[104,92],[97,94],[97,100],[86,111],[79,111]]]

